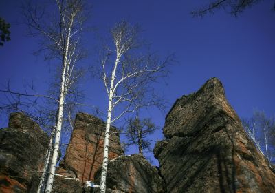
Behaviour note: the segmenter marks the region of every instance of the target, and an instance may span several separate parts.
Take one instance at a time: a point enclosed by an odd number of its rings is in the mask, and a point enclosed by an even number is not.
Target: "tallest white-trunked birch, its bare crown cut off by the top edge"
[[[54,59],[54,62],[61,64],[56,123],[47,153],[50,154],[50,146],[53,142],[52,161],[51,163],[49,163],[49,159],[45,161],[38,192],[43,192],[43,190],[41,191],[43,186],[42,181],[45,181],[47,172],[48,177],[45,192],[52,192],[61,141],[65,99],[69,88],[81,76],[81,74],[76,73],[75,69],[76,63],[83,57],[79,43],[80,34],[83,30],[83,22],[85,21],[83,15],[85,9],[84,2],[82,0],[56,0],[55,7],[57,8],[57,12],[53,13],[46,13],[45,10],[39,11],[38,6],[32,6],[30,3],[24,9],[25,19],[30,27],[30,34],[43,37],[41,50],[45,53],[45,57],[47,59]],[[47,14],[46,18],[45,13]],[[47,171],[48,164],[50,164],[49,171]]]

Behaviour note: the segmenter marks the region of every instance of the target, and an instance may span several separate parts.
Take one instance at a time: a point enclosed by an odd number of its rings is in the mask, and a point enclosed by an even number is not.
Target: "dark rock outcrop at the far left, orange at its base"
[[[0,192],[36,192],[49,138],[23,113],[0,130]]]

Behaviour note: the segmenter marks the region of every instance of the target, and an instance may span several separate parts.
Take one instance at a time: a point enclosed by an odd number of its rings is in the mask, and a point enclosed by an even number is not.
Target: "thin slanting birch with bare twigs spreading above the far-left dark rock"
[[[2,99],[0,103],[1,115],[10,114],[11,112],[23,112],[23,114],[26,114],[38,123],[41,128],[50,135],[50,143],[45,154],[44,172],[39,183],[38,192],[44,192],[45,190],[48,166],[52,156],[53,136],[55,135],[56,128],[56,103],[58,103],[58,92],[56,92],[56,89],[58,89],[56,80],[54,80],[53,84],[50,84],[50,90],[47,92],[47,95],[34,94],[33,86],[32,89],[24,86],[25,92],[15,92],[10,88],[10,82],[8,82],[7,86],[3,86],[3,89],[0,89],[0,93],[5,96],[5,98],[3,98],[4,100]],[[82,99],[80,96],[82,96],[82,93],[78,92],[78,83],[75,83],[69,88],[66,97],[67,102],[64,105],[62,134],[66,135],[65,138],[67,139],[70,138],[73,130],[73,117],[75,117],[77,111],[79,112],[78,104],[80,104],[79,101]],[[58,176],[61,175],[58,174]]]

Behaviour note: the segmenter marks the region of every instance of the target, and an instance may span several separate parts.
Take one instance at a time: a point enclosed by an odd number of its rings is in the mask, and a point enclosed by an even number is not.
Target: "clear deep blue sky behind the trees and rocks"
[[[237,18],[223,10],[203,19],[192,18],[190,11],[202,3],[206,1],[94,1],[89,25],[98,30],[85,34],[85,45],[93,54],[98,44],[95,34],[104,36],[123,18],[140,23],[153,50],[177,56],[179,64],[171,69],[168,85],[158,85],[170,106],[183,94],[198,90],[210,77],[218,77],[239,116],[252,116],[254,108],[275,114],[274,1],[263,1]],[[0,48],[0,81],[11,79],[14,89],[19,89],[24,80],[33,79],[39,91],[45,92],[51,69],[32,55],[38,45],[36,39],[25,37],[25,26],[17,25],[22,17],[18,6],[20,1],[16,0],[0,2],[0,16],[12,25],[12,40]],[[93,56],[84,63],[92,64],[96,64]],[[87,79],[83,86],[89,102],[104,110],[102,83]],[[149,115],[157,125],[164,125],[165,114],[152,110]],[[161,138],[161,132],[154,136]]]

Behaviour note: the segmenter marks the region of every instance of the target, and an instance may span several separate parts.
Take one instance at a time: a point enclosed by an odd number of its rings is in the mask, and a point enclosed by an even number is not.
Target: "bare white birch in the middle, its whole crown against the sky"
[[[150,83],[166,76],[166,65],[171,57],[160,61],[156,54],[145,54],[140,39],[140,27],[126,21],[111,29],[111,45],[104,45],[100,63],[102,81],[107,93],[108,108],[104,134],[104,155],[100,179],[100,192],[106,190],[110,126],[128,112],[140,106],[152,105],[156,97]]]

